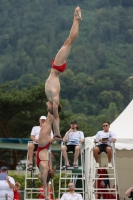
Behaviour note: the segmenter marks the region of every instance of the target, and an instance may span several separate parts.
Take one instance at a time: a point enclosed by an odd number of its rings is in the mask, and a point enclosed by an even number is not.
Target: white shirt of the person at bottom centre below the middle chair
[[[78,193],[64,193],[60,200],[83,200],[81,194]]]

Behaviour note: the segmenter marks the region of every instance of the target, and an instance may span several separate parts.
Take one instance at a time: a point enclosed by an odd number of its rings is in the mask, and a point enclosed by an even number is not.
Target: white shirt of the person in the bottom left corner
[[[9,181],[15,185],[14,178],[9,177]],[[13,199],[14,193],[13,189],[9,187],[7,180],[0,180],[0,200],[5,200],[5,194],[8,194],[8,200]]]

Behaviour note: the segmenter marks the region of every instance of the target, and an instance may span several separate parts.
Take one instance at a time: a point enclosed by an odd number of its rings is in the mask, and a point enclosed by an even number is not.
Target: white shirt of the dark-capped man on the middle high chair
[[[84,133],[82,131],[70,132],[68,134],[66,145],[79,145],[79,140],[81,139],[84,139]]]

